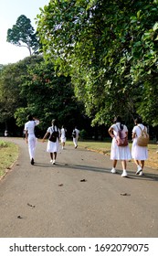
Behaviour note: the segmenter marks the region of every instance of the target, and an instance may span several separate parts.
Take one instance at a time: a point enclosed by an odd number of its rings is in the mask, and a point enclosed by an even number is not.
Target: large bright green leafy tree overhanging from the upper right
[[[41,9],[45,57],[71,75],[93,123],[141,114],[158,124],[157,12],[157,0],[62,0]]]

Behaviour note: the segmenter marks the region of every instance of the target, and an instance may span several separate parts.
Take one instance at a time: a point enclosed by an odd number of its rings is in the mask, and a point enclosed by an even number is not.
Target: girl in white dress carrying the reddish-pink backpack
[[[124,138],[128,138],[128,129],[127,126],[121,123],[121,116],[118,116],[114,119],[114,124],[111,125],[109,129],[109,133],[112,138],[111,143],[111,160],[113,160],[113,167],[111,169],[112,174],[116,174],[116,165],[117,161],[121,160],[122,165],[122,177],[126,177],[127,175],[127,160],[132,158],[131,151],[129,145],[126,146],[119,146],[117,144],[117,134],[118,131],[121,129]]]

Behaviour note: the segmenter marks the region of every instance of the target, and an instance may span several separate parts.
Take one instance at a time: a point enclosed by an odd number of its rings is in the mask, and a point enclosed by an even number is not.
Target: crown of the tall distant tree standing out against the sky
[[[6,40],[17,47],[26,47],[29,55],[37,52],[39,48],[37,33],[34,27],[31,26],[30,19],[24,15],[19,16],[16,25],[7,30]]]

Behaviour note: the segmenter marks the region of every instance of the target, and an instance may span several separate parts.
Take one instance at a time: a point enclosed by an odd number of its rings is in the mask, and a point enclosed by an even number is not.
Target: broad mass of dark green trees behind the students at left
[[[41,56],[31,56],[0,69],[0,123],[23,127],[29,113],[40,119],[38,130],[45,131],[53,118],[68,133],[75,125],[90,124],[84,107],[75,97],[70,77],[57,76],[54,65]],[[87,125],[88,126],[88,125]],[[9,130],[11,127],[8,127]]]

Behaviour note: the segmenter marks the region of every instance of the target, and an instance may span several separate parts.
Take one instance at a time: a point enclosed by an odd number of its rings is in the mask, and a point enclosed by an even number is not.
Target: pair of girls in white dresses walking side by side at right
[[[122,177],[128,176],[127,174],[127,161],[133,158],[134,163],[137,166],[136,175],[143,175],[144,161],[148,158],[147,146],[141,146],[137,144],[138,138],[141,136],[144,130],[147,133],[147,128],[142,124],[142,118],[138,117],[134,120],[134,127],[132,129],[132,151],[130,150],[129,144],[126,146],[119,146],[117,144],[118,130],[121,129],[124,133],[124,137],[128,138],[128,128],[125,124],[121,123],[121,116],[117,116],[114,119],[114,123],[109,129],[109,133],[112,138],[111,142],[111,160],[113,160],[113,166],[111,169],[112,174],[116,174],[116,165],[118,160],[121,160],[122,165]]]

